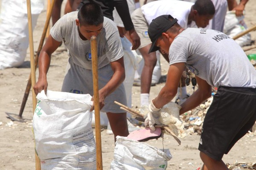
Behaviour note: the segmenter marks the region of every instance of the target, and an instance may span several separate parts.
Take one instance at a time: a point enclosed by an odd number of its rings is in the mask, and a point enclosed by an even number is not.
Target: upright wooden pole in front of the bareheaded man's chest
[[[91,37],[91,53],[93,65],[93,102],[95,114],[95,138],[96,138],[96,167],[97,170],[102,170],[102,144],[100,130],[100,115],[99,115],[99,84],[98,84],[98,50],[97,38]]]

